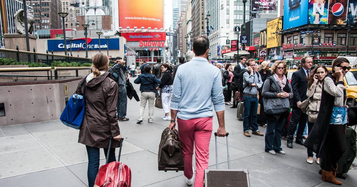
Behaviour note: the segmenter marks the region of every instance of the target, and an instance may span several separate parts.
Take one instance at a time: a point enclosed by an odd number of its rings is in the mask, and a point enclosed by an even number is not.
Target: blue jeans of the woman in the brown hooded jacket
[[[88,154],[88,186],[94,186],[95,177],[99,171],[99,148],[87,146],[87,154]],[[107,157],[108,149],[104,149],[104,155]],[[115,148],[110,149],[109,161],[113,162],[115,160]]]

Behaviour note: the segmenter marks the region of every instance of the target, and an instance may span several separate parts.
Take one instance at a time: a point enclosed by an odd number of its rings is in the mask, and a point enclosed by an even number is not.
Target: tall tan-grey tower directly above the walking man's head
[[[205,0],[191,0],[191,3],[192,38],[197,38],[198,36],[201,36],[203,32],[206,32]]]

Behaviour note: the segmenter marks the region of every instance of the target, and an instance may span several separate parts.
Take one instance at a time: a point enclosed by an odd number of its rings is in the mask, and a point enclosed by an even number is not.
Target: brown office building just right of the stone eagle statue
[[[60,0],[27,0],[26,3],[34,8],[35,30],[61,28]]]

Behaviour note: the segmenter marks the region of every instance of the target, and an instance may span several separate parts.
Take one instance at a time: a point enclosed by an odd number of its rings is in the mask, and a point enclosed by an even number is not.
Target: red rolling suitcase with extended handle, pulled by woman
[[[109,147],[111,147],[113,137],[110,137]],[[117,162],[108,163],[110,149],[108,149],[106,164],[99,168],[95,178],[94,187],[130,187],[131,171],[130,167],[120,161],[121,148],[124,138],[120,141],[120,150]]]

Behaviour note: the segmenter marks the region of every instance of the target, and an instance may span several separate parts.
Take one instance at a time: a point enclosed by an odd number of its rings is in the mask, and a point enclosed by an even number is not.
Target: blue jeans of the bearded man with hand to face
[[[256,132],[258,131],[258,124],[257,124],[258,98],[244,95],[243,101],[244,101],[243,130],[244,132],[249,131],[249,118],[251,118],[252,132]]]

